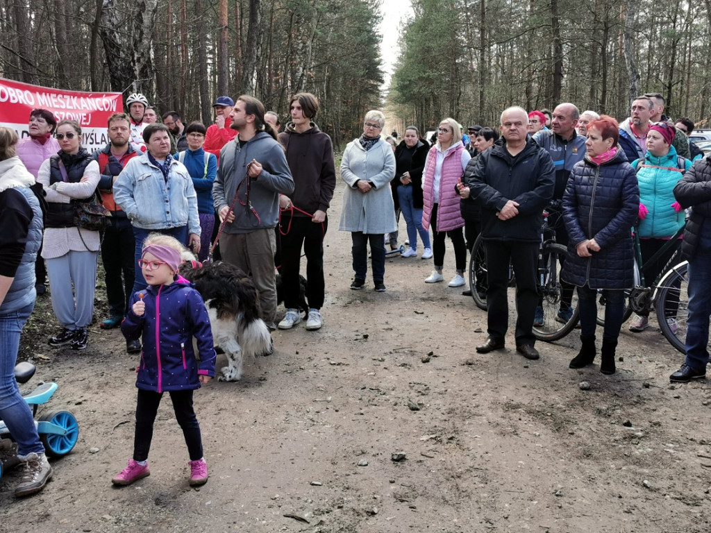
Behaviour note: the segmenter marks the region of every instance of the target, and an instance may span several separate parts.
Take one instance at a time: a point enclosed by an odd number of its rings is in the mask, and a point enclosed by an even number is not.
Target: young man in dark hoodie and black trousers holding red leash
[[[326,211],[336,188],[331,137],[312,120],[319,111],[319,100],[309,92],[299,92],[289,102],[292,122],[279,141],[287,152],[287,163],[294,177],[294,193],[281,195],[282,208],[282,286],[287,314],[279,329],[288,330],[301,322],[299,311],[299,264],[301,245],[306,254],[306,299],[309,302],[307,330],[321,328],[324,305],[324,237],[328,229]]]

